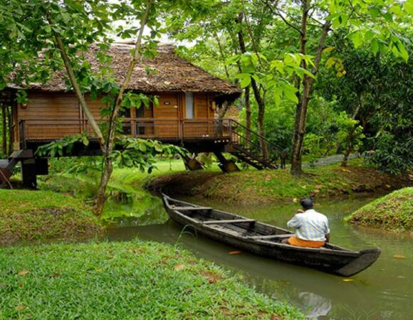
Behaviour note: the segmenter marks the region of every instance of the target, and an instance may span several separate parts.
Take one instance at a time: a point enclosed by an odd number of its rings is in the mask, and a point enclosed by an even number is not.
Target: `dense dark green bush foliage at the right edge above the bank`
[[[411,32],[407,32],[407,35]],[[364,127],[362,149],[380,170],[399,174],[412,168],[412,59],[375,55],[337,38],[338,53],[347,73],[338,79],[323,70],[318,92],[335,100],[335,110],[355,116]],[[412,53],[412,46],[407,46]]]

